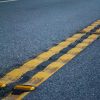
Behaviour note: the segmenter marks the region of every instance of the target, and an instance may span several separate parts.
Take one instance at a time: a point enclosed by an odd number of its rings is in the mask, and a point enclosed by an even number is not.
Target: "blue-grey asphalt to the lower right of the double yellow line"
[[[100,39],[24,100],[100,100]]]

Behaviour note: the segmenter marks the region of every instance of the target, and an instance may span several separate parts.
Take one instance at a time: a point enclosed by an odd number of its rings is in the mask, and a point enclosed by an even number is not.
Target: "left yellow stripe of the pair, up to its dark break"
[[[20,66],[19,68],[16,68],[11,72],[7,73],[3,78],[0,79],[0,87],[4,87],[9,83],[17,81],[23,74],[35,69],[39,64],[43,63],[44,61],[47,61],[50,57],[59,53],[62,49],[64,49],[71,43],[80,39],[83,35],[85,34],[75,34],[72,37],[66,39],[65,41],[59,43],[57,46],[50,48],[47,52],[43,52],[42,54],[38,55],[35,59],[32,59]]]

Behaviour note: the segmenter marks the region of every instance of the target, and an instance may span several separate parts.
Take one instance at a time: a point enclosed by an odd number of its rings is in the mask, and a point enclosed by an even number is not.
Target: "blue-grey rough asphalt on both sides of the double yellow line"
[[[100,19],[100,0],[0,3],[0,76]],[[100,100],[100,40],[26,100]]]

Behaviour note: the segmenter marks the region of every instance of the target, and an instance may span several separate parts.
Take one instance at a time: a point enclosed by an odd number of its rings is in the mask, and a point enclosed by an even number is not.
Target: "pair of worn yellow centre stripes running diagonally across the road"
[[[90,32],[97,25],[100,25],[100,20],[91,24],[87,28],[83,29],[82,33],[77,33],[72,37],[66,39],[65,41],[59,43],[57,46],[52,47],[47,52],[44,52],[38,55],[35,59],[32,59],[26,62],[23,66],[20,66],[17,69],[12,70],[7,73],[3,78],[0,79],[0,87],[5,87],[7,84],[13,83],[17,81],[23,74],[28,71],[35,69],[42,62],[47,61],[50,57],[55,54],[58,54],[62,49],[68,47],[71,43],[74,43],[76,40],[79,40],[82,36],[86,35],[85,33]],[[57,70],[62,68],[65,64],[71,61],[76,55],[78,55],[81,51],[83,51],[88,45],[90,45],[93,41],[95,41],[100,36],[100,29],[98,29],[95,34],[93,33],[87,39],[83,40],[81,43],[77,44],[74,48],[69,50],[66,54],[59,57],[56,61],[49,64],[44,70],[35,74],[29,81],[25,82],[22,85],[17,85],[14,87],[15,90],[34,90],[40,84],[42,84],[45,80],[47,80],[50,76],[52,76]],[[5,100],[20,100],[25,95],[30,92],[24,92],[21,95],[16,95],[10,93]]]

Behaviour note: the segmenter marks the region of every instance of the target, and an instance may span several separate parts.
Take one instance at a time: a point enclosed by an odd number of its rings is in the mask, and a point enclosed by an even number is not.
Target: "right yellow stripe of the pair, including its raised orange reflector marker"
[[[74,57],[76,57],[80,52],[82,52],[87,46],[89,46],[92,42],[94,42],[99,35],[92,34],[87,39],[83,40],[81,43],[76,45],[74,48],[69,50],[66,54],[62,55],[58,60],[49,64],[44,70],[35,74],[29,81],[25,82],[22,85],[15,86],[15,89],[25,90],[26,88],[30,90],[30,88],[36,88],[41,85],[44,81],[46,81],[50,76],[52,76],[55,72],[57,72],[60,68],[62,68],[65,64],[71,61]],[[27,87],[30,86],[29,88]],[[24,96],[28,95],[30,92],[24,92],[20,95],[16,95],[11,93],[4,100],[22,100]]]

